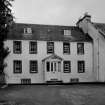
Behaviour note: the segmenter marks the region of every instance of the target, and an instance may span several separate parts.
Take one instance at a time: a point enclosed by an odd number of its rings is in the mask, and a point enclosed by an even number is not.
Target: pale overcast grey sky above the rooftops
[[[85,12],[92,21],[105,23],[105,0],[15,0],[15,22],[50,25],[75,25]]]

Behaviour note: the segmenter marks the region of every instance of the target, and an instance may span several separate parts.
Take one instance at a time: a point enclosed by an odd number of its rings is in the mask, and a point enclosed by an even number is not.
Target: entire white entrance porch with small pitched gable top
[[[53,54],[42,60],[44,81],[61,81],[62,58]]]

